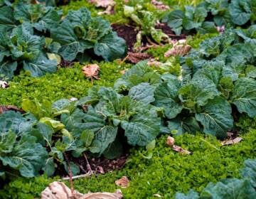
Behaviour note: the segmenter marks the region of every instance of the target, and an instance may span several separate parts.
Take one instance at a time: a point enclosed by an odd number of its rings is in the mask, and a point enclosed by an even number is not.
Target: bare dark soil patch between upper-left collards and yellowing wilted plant
[[[127,26],[124,24],[112,24],[112,28],[117,32],[117,35],[123,38],[128,47],[128,51],[132,52],[134,43],[136,43],[136,36],[138,31],[133,26]]]

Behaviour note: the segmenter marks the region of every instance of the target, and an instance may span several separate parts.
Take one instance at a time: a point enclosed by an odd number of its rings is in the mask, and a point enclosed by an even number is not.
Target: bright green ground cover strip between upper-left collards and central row
[[[94,85],[112,86],[122,74],[121,70],[129,65],[118,63],[99,63],[100,80],[95,80]],[[60,68],[55,74],[43,77],[31,77],[21,73],[14,77],[9,87],[0,92],[0,104],[15,104],[21,107],[22,99],[38,99],[54,102],[61,98],[83,97],[92,83],[82,74],[82,65],[75,64],[72,68]],[[44,106],[46,107],[46,106]]]

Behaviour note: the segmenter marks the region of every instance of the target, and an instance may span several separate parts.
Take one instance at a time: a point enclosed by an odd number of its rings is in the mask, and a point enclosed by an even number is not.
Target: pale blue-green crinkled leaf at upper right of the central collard
[[[129,90],[129,97],[133,100],[143,102],[144,104],[150,104],[154,102],[154,87],[149,83],[140,83]]]

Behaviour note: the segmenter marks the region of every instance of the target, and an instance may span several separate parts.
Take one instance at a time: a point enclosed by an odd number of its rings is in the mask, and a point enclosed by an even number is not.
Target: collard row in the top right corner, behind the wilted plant
[[[162,21],[180,34],[200,31],[214,32],[215,26],[247,26],[256,21],[256,2],[253,0],[206,0],[197,6],[170,11]]]

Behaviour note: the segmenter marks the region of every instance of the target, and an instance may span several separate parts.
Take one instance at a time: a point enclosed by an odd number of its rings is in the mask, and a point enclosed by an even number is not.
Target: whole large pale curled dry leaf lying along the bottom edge
[[[117,190],[115,193],[86,193],[72,191],[68,186],[61,182],[53,182],[41,193],[41,199],[121,199],[122,192]]]

